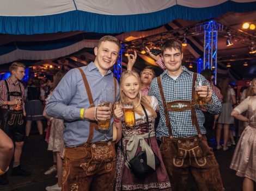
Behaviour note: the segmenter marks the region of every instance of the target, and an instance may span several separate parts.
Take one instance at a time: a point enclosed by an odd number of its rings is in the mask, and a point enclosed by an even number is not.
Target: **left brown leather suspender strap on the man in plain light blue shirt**
[[[87,92],[87,95],[88,95],[90,107],[94,107],[93,95],[92,95],[92,92],[90,91],[90,86],[88,84],[88,81],[87,81],[87,78],[86,78],[86,74],[84,74],[84,72],[83,72],[83,70],[81,68],[77,68],[77,69],[79,69],[79,71],[80,71],[80,73],[82,75],[83,83],[84,83],[84,86],[86,87],[86,92]],[[95,130],[97,130],[97,123],[96,123],[95,120],[94,121],[90,121],[90,123],[89,123],[89,136],[88,136],[88,139],[87,139],[86,143],[92,142],[94,128],[95,128]]]

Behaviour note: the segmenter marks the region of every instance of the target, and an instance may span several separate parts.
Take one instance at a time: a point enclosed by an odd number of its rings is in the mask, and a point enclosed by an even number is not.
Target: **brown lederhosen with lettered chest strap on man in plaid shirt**
[[[191,100],[176,100],[166,103],[164,98],[161,77],[157,77],[157,84],[162,98],[166,126],[169,137],[161,137],[160,151],[166,165],[173,190],[185,190],[188,178],[188,169],[191,170],[199,190],[223,190],[220,171],[215,156],[210,150],[206,138],[202,135],[197,116],[194,99],[194,84],[197,73],[193,74]],[[196,126],[197,136],[188,138],[174,138],[170,126],[169,112],[191,110],[192,124]],[[207,169],[207,171],[205,171]],[[205,177],[202,177],[205,176]]]

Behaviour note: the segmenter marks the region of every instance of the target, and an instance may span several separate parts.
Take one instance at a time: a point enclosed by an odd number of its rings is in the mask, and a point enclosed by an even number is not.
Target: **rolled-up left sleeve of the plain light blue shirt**
[[[71,69],[59,82],[48,101],[46,106],[48,116],[64,120],[80,119],[81,108],[77,108],[75,104],[70,104],[76,93],[76,85],[77,74],[75,69]]]

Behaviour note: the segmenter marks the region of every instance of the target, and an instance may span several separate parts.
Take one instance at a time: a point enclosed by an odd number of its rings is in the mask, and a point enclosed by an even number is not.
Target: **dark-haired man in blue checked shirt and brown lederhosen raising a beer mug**
[[[166,71],[159,79],[153,79],[149,95],[154,95],[159,101],[161,118],[156,134],[162,141],[160,151],[172,187],[175,191],[185,190],[190,169],[198,190],[223,190],[217,161],[206,142],[204,114],[199,106],[191,104],[194,73],[181,65],[183,58],[181,43],[167,40],[162,44],[161,49]],[[198,74],[197,80],[205,80],[205,78]],[[212,114],[221,112],[221,102],[212,92],[209,82],[208,86],[199,88],[198,94],[200,97],[206,97],[205,107],[208,112]],[[181,109],[179,107],[177,109],[177,106],[181,106]],[[176,110],[173,111],[172,108]]]

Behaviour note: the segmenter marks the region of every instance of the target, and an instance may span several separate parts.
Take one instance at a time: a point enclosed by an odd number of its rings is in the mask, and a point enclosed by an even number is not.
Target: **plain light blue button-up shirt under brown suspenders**
[[[100,104],[100,101],[110,101],[114,104],[114,101],[119,99],[119,86],[117,83],[117,94],[114,95],[113,73],[110,70],[102,76],[94,62],[81,69],[86,74],[95,105]],[[86,143],[89,136],[89,120],[80,119],[80,111],[81,108],[87,109],[89,105],[82,75],[77,68],[71,69],[55,88],[46,107],[48,116],[64,119],[63,139],[68,147]],[[112,124],[113,117],[107,133],[94,130],[92,143],[111,140]]]

